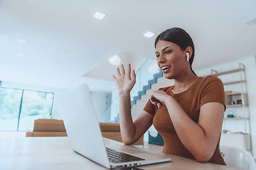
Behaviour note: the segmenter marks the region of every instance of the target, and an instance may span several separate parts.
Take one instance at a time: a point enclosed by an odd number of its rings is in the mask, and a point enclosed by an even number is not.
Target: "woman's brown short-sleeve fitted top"
[[[159,90],[165,91],[166,94],[173,96],[188,116],[196,123],[198,123],[200,108],[203,104],[218,102],[222,103],[225,107],[223,83],[215,76],[198,77],[194,84],[192,84],[186,91],[179,94],[173,94],[171,91],[172,88],[173,86],[167,86],[160,88]],[[144,111],[154,115],[153,125],[164,139],[164,153],[195,159],[193,154],[191,154],[191,152],[183,146],[181,140],[179,140],[166,106],[157,108],[148,101],[144,107]],[[225,165],[224,159],[220,154],[219,145],[220,139],[213,157],[209,162]]]

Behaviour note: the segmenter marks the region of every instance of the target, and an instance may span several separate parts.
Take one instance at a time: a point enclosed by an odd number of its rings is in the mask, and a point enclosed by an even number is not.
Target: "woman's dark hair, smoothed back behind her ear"
[[[191,71],[193,72],[192,69],[192,63],[193,63],[193,57],[195,54],[195,47],[193,45],[193,40],[190,35],[186,32],[186,30],[183,30],[182,28],[170,28],[168,30],[165,30],[163,33],[159,34],[155,40],[155,47],[156,43],[159,42],[159,40],[166,40],[169,42],[174,42],[176,45],[181,47],[181,50],[186,50],[186,47],[191,46],[192,47],[192,55],[191,58],[189,59],[189,65],[191,68]],[[195,72],[193,74],[196,75]]]

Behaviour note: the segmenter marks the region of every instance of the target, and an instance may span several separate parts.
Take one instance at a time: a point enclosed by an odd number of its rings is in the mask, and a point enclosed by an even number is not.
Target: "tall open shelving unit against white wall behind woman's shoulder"
[[[233,74],[236,72],[240,75]],[[210,73],[216,77],[221,75],[223,80],[226,77],[232,78],[226,79],[226,82],[223,82],[224,89],[227,90],[225,91],[225,105],[228,109],[225,111],[225,118],[223,118],[223,133],[221,135],[220,145],[238,147],[249,151],[252,147],[250,112],[249,108],[245,107],[248,106],[245,64],[240,63],[238,69],[230,69],[225,72],[217,72],[212,69]],[[227,76],[223,76],[224,74],[227,74]],[[236,91],[234,92],[233,90]],[[228,118],[227,115],[233,115],[235,117]],[[225,131],[236,133],[225,133]]]

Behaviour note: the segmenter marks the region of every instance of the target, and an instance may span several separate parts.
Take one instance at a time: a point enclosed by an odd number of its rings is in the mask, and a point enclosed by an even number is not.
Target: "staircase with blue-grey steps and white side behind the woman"
[[[149,101],[149,97],[153,91],[158,90],[161,87],[174,85],[174,80],[166,79],[163,77],[163,72],[159,70],[159,73],[154,74],[154,79],[148,81],[146,86],[143,86],[143,90],[138,92],[137,96],[134,96],[131,101],[132,106],[132,119],[135,120]]]

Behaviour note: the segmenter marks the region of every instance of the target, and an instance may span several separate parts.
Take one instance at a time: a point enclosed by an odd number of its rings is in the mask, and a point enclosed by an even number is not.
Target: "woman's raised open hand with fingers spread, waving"
[[[129,93],[136,82],[135,71],[134,69],[132,70],[131,77],[131,64],[128,64],[127,73],[125,74],[124,65],[122,64],[121,72],[122,74],[120,73],[119,67],[117,67],[117,77],[115,77],[114,75],[112,77],[117,84],[119,94]]]

